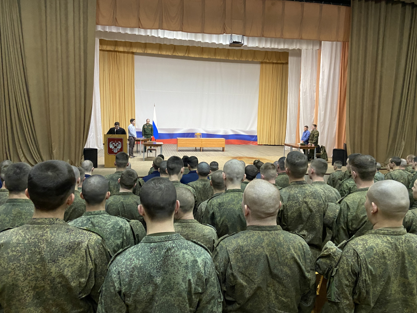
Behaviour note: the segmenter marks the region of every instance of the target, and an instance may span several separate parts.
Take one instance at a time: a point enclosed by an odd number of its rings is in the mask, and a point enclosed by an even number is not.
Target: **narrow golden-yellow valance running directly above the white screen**
[[[100,49],[239,61],[288,63],[288,52],[176,46],[100,39]]]

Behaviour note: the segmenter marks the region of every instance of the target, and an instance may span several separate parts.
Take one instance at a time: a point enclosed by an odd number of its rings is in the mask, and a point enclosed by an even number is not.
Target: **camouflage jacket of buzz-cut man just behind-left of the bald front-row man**
[[[207,203],[202,223],[213,226],[220,238],[246,229],[242,211],[242,189],[229,189]]]

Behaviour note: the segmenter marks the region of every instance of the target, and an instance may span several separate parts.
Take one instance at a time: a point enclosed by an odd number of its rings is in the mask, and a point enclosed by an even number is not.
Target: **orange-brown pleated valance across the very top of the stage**
[[[97,25],[348,41],[350,7],[282,0],[97,0]]]

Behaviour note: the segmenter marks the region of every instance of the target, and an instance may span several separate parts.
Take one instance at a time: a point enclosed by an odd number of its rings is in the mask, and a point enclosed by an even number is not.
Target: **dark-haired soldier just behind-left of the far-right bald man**
[[[372,156],[360,155],[351,161],[352,178],[357,189],[342,198],[335,229],[332,229],[332,241],[340,244],[353,235],[359,237],[372,229],[366,218],[365,199],[370,186],[373,185],[376,171],[376,161]]]

